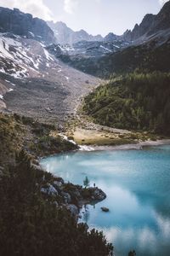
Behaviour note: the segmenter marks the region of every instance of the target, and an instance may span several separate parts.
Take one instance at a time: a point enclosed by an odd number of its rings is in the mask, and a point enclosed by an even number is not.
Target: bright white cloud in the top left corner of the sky
[[[0,6],[10,9],[18,8],[25,13],[43,20],[52,20],[53,14],[43,0],[0,0]]]

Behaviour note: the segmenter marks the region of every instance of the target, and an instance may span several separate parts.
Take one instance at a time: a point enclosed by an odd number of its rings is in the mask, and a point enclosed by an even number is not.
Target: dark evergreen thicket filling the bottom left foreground
[[[24,151],[0,174],[1,255],[112,255],[102,232],[77,224],[64,206],[56,207],[53,195],[41,192],[54,177],[37,171]]]

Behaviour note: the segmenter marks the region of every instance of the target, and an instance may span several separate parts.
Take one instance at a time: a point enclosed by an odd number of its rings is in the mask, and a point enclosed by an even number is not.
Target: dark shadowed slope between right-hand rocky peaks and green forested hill
[[[100,76],[108,77],[111,73],[130,73],[139,69],[140,72],[147,70],[169,72],[170,69],[170,44],[158,45],[156,40],[147,44],[131,46],[116,54],[106,55],[98,61]]]

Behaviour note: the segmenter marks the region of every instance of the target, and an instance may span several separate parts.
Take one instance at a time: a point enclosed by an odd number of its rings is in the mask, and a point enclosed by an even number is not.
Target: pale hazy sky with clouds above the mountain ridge
[[[93,35],[121,35],[144,15],[157,14],[166,0],[0,0],[0,6],[19,8],[43,20],[63,21],[71,29]]]

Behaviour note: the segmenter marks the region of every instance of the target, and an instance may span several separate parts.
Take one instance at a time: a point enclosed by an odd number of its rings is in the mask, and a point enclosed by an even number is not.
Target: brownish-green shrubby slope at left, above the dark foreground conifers
[[[41,156],[76,149],[77,146],[62,137],[53,137],[54,125],[42,124],[20,115],[0,113],[0,163],[13,162],[17,150]]]

